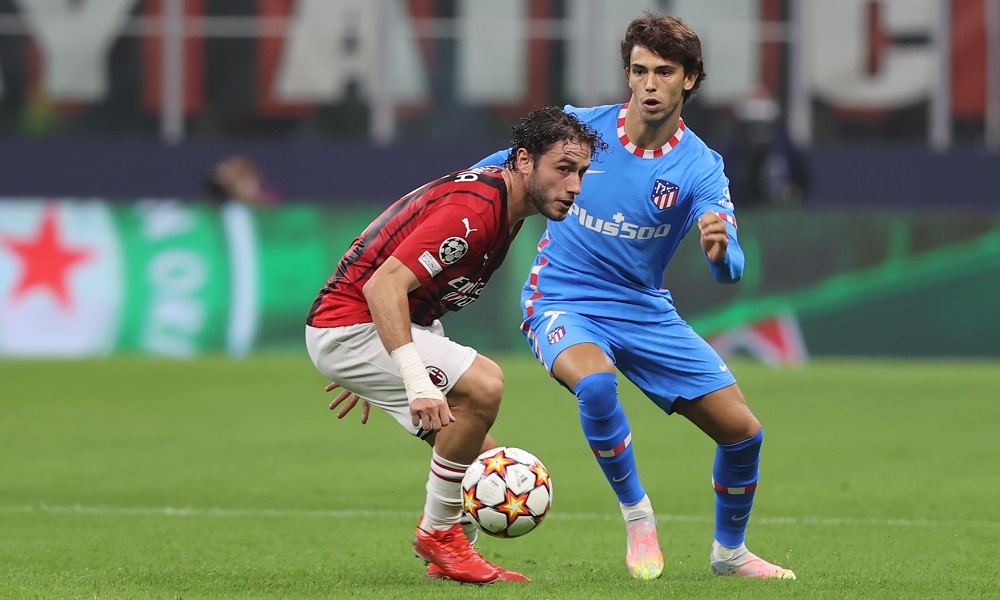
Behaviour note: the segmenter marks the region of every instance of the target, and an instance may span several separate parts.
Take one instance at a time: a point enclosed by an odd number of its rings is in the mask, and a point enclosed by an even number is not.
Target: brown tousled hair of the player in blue
[[[650,11],[629,23],[622,40],[622,64],[625,70],[632,62],[632,48],[642,46],[660,58],[672,60],[684,67],[684,74],[696,73],[698,79],[690,90],[684,91],[687,102],[705,81],[705,62],[701,55],[701,40],[684,21],[677,17],[660,17]]]

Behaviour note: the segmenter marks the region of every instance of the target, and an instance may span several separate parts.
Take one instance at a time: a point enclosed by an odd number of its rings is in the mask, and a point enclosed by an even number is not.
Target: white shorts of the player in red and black
[[[410,334],[431,381],[447,395],[478,353],[445,337],[440,321],[428,327],[411,325]],[[410,434],[419,438],[430,434],[430,430],[413,424],[403,378],[373,323],[344,327],[306,325],[306,348],[324,377],[385,410]]]

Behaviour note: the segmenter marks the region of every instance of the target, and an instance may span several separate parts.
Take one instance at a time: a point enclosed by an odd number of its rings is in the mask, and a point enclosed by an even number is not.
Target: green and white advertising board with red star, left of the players
[[[0,355],[300,350],[312,299],[376,215],[0,200]]]

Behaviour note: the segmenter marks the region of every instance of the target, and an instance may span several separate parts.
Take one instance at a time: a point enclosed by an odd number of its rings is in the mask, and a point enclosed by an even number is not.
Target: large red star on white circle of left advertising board
[[[91,251],[70,248],[59,238],[56,210],[45,208],[42,224],[33,239],[5,237],[3,246],[18,257],[21,263],[21,278],[11,292],[11,299],[21,298],[33,289],[47,290],[63,308],[69,308],[70,269],[90,260]]]

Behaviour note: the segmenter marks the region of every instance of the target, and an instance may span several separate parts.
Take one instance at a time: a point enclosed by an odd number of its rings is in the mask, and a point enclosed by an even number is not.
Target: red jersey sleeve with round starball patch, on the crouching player
[[[483,215],[454,202],[427,211],[420,224],[393,251],[421,285],[445,269],[481,262],[495,235]]]

